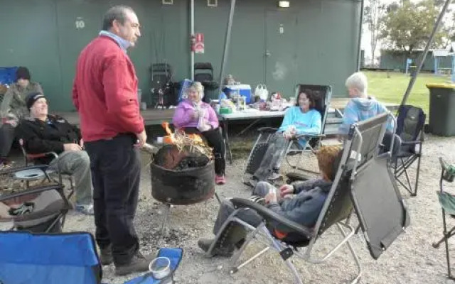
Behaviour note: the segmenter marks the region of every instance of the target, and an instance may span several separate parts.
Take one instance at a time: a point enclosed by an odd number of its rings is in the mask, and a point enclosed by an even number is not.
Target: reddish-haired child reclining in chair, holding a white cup
[[[317,158],[319,169],[321,170],[321,178],[283,185],[279,187],[279,197],[277,197],[277,189],[275,187],[268,182],[259,182],[253,190],[253,195],[256,195],[253,198],[260,200],[263,197],[265,206],[277,214],[304,226],[314,226],[326,201],[328,192],[331,190],[332,182],[338,169],[340,151],[341,148],[337,146],[323,146],[318,151]],[[223,200],[215,226],[213,226],[213,234],[218,234],[234,210],[232,202]],[[252,209],[240,210],[237,217],[252,226],[259,226],[262,222],[262,217]],[[242,245],[247,234],[245,228],[235,222],[233,222],[232,226],[226,226],[226,228],[221,237],[223,241],[213,249],[212,256],[231,256],[235,248],[240,248]],[[291,236],[291,234],[288,236],[283,231],[280,231],[279,224],[272,224],[272,228],[269,229],[279,239],[298,241],[299,236]],[[215,240],[199,239],[198,246],[203,251],[208,251],[213,241]]]

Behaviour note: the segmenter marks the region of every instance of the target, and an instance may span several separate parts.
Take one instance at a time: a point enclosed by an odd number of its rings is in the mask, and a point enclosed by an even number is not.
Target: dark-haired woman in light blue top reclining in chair
[[[288,142],[300,134],[319,134],[321,132],[321,114],[314,109],[315,95],[310,89],[299,93],[297,103],[286,114],[282,125],[270,139],[264,158],[253,175],[253,180],[265,181],[279,178],[280,162],[287,151]],[[306,146],[304,139],[299,144]],[[253,182],[255,183],[255,182]]]

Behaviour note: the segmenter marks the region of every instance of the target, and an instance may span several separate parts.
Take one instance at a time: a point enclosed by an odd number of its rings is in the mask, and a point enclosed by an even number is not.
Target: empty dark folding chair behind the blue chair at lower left
[[[41,170],[43,165],[9,168],[0,175],[14,175],[23,170]],[[39,187],[29,187],[20,192],[0,196],[0,222],[11,224],[16,230],[34,232],[58,232],[65,224],[65,215],[71,205],[65,197],[63,186],[55,183]]]

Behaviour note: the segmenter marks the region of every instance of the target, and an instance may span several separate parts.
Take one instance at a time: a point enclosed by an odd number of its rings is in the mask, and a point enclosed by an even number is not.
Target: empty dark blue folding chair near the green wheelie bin
[[[402,105],[398,110],[397,131],[400,137],[400,147],[398,153],[392,155],[392,168],[394,169],[397,182],[405,187],[405,190],[412,196],[417,195],[419,186],[420,159],[422,158],[422,143],[424,141],[425,114],[419,107]],[[414,187],[411,184],[408,169],[417,160]],[[402,180],[404,174],[405,180]]]

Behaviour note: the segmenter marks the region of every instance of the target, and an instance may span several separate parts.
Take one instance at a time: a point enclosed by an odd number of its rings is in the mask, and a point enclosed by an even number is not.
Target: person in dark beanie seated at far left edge
[[[11,164],[7,157],[16,138],[19,120],[29,115],[26,96],[30,93],[43,94],[43,89],[37,82],[31,82],[27,67],[18,67],[16,82],[9,86],[0,104],[0,169]]]

